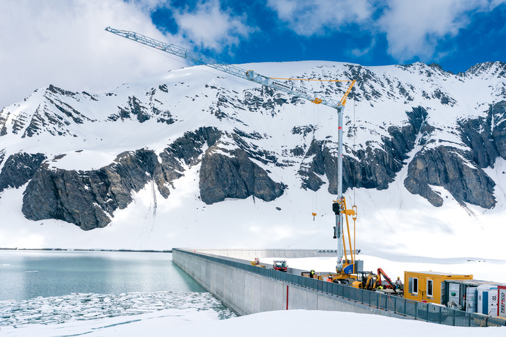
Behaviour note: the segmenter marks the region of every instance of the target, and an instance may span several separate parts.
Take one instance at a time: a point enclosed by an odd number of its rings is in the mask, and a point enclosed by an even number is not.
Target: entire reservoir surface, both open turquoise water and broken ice
[[[0,250],[0,327],[163,309],[234,315],[170,253]]]

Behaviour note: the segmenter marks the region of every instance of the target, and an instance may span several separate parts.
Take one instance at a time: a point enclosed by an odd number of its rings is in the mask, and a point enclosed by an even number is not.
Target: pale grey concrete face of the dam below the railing
[[[259,256],[258,251],[253,252]],[[277,251],[279,252],[281,251]],[[269,252],[271,253],[272,251]],[[238,256],[237,251],[231,255]],[[272,310],[308,309],[405,317],[393,311],[323,291],[334,289],[340,286],[338,284],[259,268],[251,265],[249,261],[238,258],[206,254],[194,249],[173,249],[172,261],[238,315]],[[314,283],[317,287],[304,286],[304,282]],[[318,287],[321,289],[318,290]],[[386,303],[386,300],[384,302]]]

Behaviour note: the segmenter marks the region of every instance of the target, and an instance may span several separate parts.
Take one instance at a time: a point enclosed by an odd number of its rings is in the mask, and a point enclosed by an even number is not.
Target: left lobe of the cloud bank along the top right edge
[[[325,35],[348,24],[368,24],[372,0],[267,0],[268,7],[295,33]]]

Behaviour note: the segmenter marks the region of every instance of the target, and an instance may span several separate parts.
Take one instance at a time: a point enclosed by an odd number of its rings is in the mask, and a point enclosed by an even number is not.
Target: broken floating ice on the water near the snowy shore
[[[63,297],[36,297],[21,302],[0,301],[0,327],[95,320],[163,309],[190,308],[214,310],[220,319],[234,316],[234,313],[210,293],[75,293]]]

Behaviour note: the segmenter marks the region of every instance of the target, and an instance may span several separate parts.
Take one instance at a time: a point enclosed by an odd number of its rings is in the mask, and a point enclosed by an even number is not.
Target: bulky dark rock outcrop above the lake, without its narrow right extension
[[[116,163],[99,170],[38,170],[28,183],[22,212],[28,219],[58,219],[89,230],[105,227],[113,211],[132,202],[154,174],[156,154],[149,150],[124,152]]]

